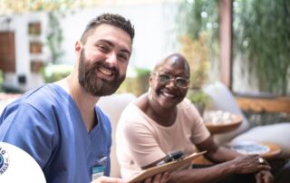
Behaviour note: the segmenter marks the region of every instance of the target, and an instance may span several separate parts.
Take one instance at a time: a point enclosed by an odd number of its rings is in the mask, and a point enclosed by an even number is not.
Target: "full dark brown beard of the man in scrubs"
[[[104,67],[114,72],[114,79],[106,81],[97,77],[98,67]],[[86,92],[90,92],[93,96],[105,96],[116,92],[121,82],[124,81],[126,75],[120,75],[116,67],[111,67],[104,61],[98,61],[90,64],[84,56],[84,49],[81,51],[79,63],[79,83]]]

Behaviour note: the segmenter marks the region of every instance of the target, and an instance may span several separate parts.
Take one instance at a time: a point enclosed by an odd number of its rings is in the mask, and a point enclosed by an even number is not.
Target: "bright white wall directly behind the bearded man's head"
[[[85,25],[95,16],[106,12],[122,14],[134,24],[136,34],[131,65],[152,68],[166,54],[176,51],[174,45],[176,4],[102,6],[67,14],[61,20],[65,50],[63,62],[74,63],[73,46],[81,37]]]

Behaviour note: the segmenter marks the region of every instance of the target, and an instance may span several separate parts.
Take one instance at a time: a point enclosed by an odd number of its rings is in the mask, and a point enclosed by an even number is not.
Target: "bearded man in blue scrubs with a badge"
[[[73,72],[59,82],[26,92],[2,113],[0,140],[28,152],[47,182],[124,182],[106,178],[110,174],[111,124],[95,104],[125,79],[133,37],[129,20],[101,14],[75,43]],[[145,181],[168,179],[164,173]]]

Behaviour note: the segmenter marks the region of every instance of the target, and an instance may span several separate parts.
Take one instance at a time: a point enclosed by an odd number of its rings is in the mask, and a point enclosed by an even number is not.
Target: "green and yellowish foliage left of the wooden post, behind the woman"
[[[201,87],[218,54],[218,0],[182,1],[177,22],[181,53],[191,68],[190,87]]]

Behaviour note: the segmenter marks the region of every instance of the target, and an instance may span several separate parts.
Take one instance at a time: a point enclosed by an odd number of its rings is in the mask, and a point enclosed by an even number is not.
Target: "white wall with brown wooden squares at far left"
[[[43,79],[40,74],[30,72],[30,60],[33,55],[29,53],[29,43],[31,39],[39,39],[44,42],[45,35],[43,34],[46,26],[46,15],[44,13],[31,14],[14,14],[13,16],[2,17],[2,21],[10,18],[9,24],[0,24],[0,31],[14,32],[14,49],[15,49],[15,73],[5,73],[5,85],[9,87],[19,88],[22,91],[27,91],[34,87],[43,84]],[[28,35],[28,24],[31,22],[42,22],[42,34],[39,37]],[[46,52],[46,53],[45,53]],[[39,56],[45,61],[47,51]],[[26,84],[18,83],[18,76],[25,75]]]

